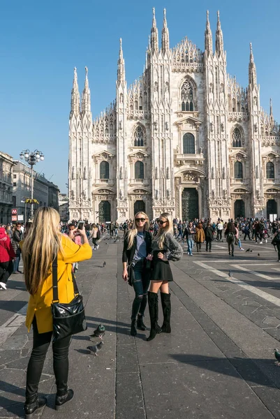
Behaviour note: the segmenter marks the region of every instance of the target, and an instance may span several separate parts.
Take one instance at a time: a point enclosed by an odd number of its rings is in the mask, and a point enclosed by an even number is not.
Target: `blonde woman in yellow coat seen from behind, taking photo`
[[[33,326],[33,348],[27,367],[25,418],[31,419],[38,409],[45,406],[45,397],[38,398],[38,384],[42,374],[45,355],[52,340],[52,261],[57,256],[59,302],[71,302],[74,298],[72,263],[91,258],[92,250],[85,230],[72,230],[73,237],[80,234],[81,246],[71,238],[61,235],[59,213],[50,207],[40,207],[34,222],[22,243],[24,279],[30,298],[26,325]],[[57,384],[55,408],[73,399],[73,390],[68,389],[68,348],[71,337],[52,344],[54,376]]]

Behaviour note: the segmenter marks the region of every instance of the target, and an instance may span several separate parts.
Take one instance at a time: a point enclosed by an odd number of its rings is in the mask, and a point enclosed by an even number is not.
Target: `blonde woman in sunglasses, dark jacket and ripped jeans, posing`
[[[146,330],[143,317],[150,283],[147,258],[152,260],[152,234],[149,233],[149,218],[145,212],[137,212],[131,230],[128,230],[124,236],[122,253],[122,277],[124,281],[128,280],[128,284],[133,286],[135,291],[131,311],[131,336],[137,335],[136,318],[137,328]]]

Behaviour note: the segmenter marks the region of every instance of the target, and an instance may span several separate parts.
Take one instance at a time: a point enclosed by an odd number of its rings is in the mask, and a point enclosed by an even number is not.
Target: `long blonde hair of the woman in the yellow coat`
[[[57,253],[63,253],[59,221],[59,213],[54,208],[38,208],[22,244],[24,279],[31,295],[36,294],[50,274],[50,266]]]

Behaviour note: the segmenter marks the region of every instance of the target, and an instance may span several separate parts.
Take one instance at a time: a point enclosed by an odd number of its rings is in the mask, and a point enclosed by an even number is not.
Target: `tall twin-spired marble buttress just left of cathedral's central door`
[[[153,10],[154,13],[154,10]],[[173,151],[171,134],[170,68],[171,53],[165,10],[161,51],[153,45],[156,29],[153,16],[152,38],[149,50],[149,72],[151,92],[151,133],[152,133],[152,194],[154,216],[163,211],[173,213],[175,193],[173,179]]]

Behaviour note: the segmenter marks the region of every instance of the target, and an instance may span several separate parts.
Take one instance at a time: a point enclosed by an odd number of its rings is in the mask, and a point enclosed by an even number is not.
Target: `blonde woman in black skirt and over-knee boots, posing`
[[[153,270],[151,286],[148,292],[149,317],[151,332],[147,341],[156,337],[157,333],[170,333],[171,302],[168,282],[173,281],[169,260],[179,260],[183,256],[183,249],[175,240],[171,214],[163,212],[159,217],[159,231],[152,241]],[[163,325],[158,325],[159,297],[161,290],[161,305],[163,307]]]

